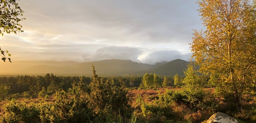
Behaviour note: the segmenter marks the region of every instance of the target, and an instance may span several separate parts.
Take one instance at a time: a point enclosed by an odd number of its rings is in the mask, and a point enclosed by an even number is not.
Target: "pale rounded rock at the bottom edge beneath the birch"
[[[215,113],[213,114],[206,123],[238,123],[236,119],[226,115],[225,113]]]

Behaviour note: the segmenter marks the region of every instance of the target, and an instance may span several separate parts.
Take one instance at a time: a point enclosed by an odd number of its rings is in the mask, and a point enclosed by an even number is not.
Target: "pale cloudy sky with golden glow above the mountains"
[[[4,34],[12,61],[189,61],[196,0],[20,0],[24,33]]]

